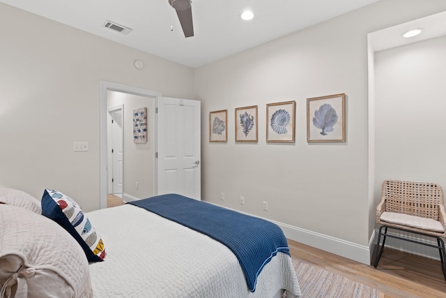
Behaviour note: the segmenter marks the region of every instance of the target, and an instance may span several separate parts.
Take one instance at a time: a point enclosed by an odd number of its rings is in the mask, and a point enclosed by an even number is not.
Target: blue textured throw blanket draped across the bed
[[[185,225],[226,245],[238,258],[248,288],[256,290],[257,276],[278,252],[290,254],[279,226],[253,216],[183,195],[158,195],[128,202]]]

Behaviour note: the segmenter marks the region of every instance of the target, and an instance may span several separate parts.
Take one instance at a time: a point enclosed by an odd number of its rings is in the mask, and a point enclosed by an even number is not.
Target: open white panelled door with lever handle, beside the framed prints
[[[200,102],[158,98],[157,194],[201,200]]]

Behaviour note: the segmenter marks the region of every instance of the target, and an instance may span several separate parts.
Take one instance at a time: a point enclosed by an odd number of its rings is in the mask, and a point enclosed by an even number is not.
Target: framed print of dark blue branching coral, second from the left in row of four
[[[257,142],[257,106],[236,108],[236,142]]]

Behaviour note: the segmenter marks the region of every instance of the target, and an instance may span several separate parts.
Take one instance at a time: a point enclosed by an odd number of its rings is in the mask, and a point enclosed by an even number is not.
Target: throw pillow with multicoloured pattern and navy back
[[[79,242],[89,262],[104,260],[104,243],[75,200],[59,191],[45,189],[42,214],[59,223]]]

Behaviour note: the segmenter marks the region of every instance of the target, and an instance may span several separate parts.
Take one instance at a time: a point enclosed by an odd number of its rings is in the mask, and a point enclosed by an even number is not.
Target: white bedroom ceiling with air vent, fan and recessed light
[[[378,0],[193,0],[190,38],[168,0],[0,1],[196,68]],[[254,12],[253,20],[241,20],[246,9]],[[105,28],[107,20],[132,31]]]

